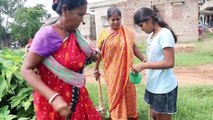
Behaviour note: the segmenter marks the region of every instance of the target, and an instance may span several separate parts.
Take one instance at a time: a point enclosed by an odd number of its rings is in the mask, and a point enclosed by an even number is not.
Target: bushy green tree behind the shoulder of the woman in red
[[[43,21],[50,18],[50,16],[41,4],[17,10],[15,20],[11,24],[13,38],[26,44],[28,39],[34,37]]]

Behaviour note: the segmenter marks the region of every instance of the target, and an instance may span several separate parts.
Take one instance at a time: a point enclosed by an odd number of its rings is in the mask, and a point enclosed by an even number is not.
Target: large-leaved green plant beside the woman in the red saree
[[[23,51],[0,51],[0,120],[24,120],[34,116],[32,88],[20,73],[23,56]]]

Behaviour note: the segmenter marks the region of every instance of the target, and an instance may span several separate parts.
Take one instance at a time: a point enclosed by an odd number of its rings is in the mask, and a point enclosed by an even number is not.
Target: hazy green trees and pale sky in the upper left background
[[[44,6],[24,7],[26,0],[0,0],[0,49],[18,40],[25,44],[51,15]]]

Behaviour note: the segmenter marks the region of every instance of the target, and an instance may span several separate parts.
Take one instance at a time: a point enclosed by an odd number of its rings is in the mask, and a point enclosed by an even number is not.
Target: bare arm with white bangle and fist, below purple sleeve
[[[58,93],[45,85],[44,82],[42,82],[41,77],[34,72],[34,69],[36,69],[43,60],[43,57],[29,51],[21,67],[21,73],[27,83],[32,86],[34,90],[38,91],[47,100],[51,99],[50,104],[52,104],[53,108],[58,111],[61,116],[66,117],[71,112],[69,105],[60,95],[57,95]]]

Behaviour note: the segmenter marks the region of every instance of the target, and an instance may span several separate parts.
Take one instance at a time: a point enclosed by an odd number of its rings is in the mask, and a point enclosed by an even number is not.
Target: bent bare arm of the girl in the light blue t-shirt
[[[132,67],[133,72],[140,72],[143,69],[168,69],[174,67],[174,48],[163,49],[164,59],[159,62],[146,62]]]

